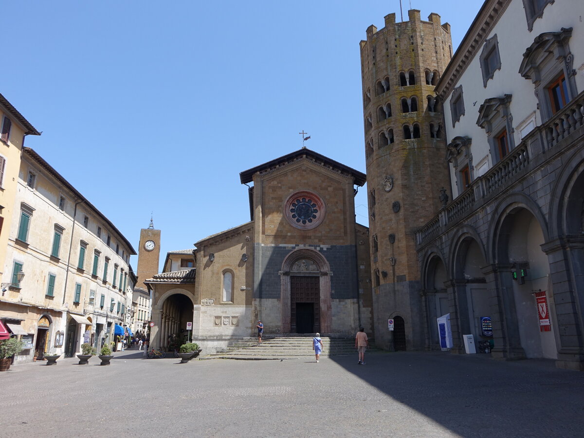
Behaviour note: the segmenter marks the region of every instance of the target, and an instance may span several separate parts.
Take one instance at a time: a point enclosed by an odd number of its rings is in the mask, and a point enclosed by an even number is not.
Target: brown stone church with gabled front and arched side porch
[[[251,220],[201,239],[192,254],[169,253],[171,272],[145,281],[152,346],[168,347],[190,321],[206,352],[254,335],[258,319],[279,336],[371,327],[369,230],[354,213],[365,175],[302,148],[240,177]]]

